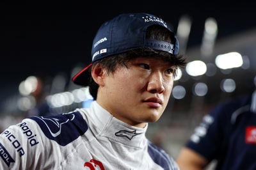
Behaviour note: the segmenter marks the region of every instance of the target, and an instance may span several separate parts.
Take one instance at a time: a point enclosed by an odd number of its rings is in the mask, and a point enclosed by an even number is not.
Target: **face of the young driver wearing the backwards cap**
[[[173,87],[175,66],[157,58],[136,58],[104,76],[97,102],[129,125],[145,127],[163,114]]]

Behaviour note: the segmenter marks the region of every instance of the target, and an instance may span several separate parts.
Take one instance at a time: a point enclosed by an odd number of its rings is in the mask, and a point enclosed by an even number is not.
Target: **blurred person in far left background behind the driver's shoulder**
[[[20,82],[20,95],[15,97],[13,102],[4,104],[5,113],[0,117],[0,133],[10,125],[24,120],[24,118],[49,116],[54,113],[45,100],[45,97],[49,95],[47,81],[44,73],[35,73],[35,75],[30,75]]]

